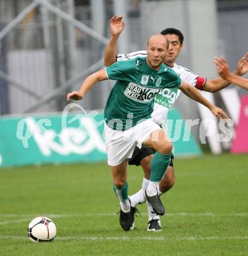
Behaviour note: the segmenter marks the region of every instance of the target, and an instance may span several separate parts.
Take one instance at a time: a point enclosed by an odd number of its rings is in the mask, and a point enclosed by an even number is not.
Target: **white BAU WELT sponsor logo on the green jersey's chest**
[[[160,89],[146,88],[137,85],[136,83],[129,83],[124,91],[124,95],[137,102],[147,103],[152,101]]]

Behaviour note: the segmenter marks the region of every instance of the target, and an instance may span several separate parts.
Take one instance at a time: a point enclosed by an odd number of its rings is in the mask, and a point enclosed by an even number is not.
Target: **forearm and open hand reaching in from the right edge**
[[[235,85],[238,85],[239,87],[248,90],[248,79],[230,73],[228,62],[226,62],[223,57],[215,58],[214,62],[217,66],[218,74],[223,79],[226,79],[229,83],[234,83]]]

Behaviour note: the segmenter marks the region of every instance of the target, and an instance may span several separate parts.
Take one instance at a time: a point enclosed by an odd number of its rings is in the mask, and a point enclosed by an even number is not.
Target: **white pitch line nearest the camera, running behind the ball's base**
[[[0,236],[0,239],[27,240],[28,236]],[[115,241],[115,240],[146,240],[146,241],[201,241],[201,240],[248,240],[248,236],[58,236],[55,240],[70,241]]]

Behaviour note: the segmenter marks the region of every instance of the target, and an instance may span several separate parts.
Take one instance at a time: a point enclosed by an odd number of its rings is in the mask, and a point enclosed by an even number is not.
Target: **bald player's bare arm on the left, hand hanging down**
[[[72,93],[68,93],[66,98],[67,100],[81,100],[83,97],[87,94],[87,92],[99,81],[103,81],[108,79],[108,76],[106,74],[106,70],[102,69],[98,72],[89,75],[83,84],[81,85],[81,88],[79,91],[72,91]]]

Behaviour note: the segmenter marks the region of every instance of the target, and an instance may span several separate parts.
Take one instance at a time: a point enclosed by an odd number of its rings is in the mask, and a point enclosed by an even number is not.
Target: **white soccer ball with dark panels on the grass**
[[[37,217],[28,225],[28,237],[32,242],[49,242],[56,236],[56,226],[47,217]]]

